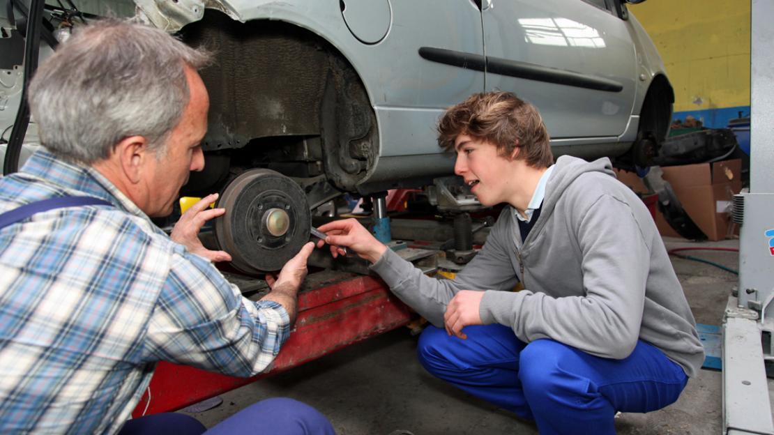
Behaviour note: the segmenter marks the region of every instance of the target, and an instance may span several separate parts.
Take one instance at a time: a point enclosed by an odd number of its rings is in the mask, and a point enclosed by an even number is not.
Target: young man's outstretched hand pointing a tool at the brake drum
[[[361,259],[366,259],[372,263],[378,262],[378,260],[382,258],[382,254],[387,250],[387,247],[383,245],[381,241],[376,240],[376,238],[354,218],[328,222],[319,229],[328,235],[327,238],[325,238],[325,243],[328,245],[335,245],[330,247],[330,253],[334,256],[334,259],[338,255],[344,255],[344,252],[342,252],[341,249],[337,249],[336,246],[350,248],[358,254]],[[318,241],[317,247],[321,248],[322,246],[323,241]]]

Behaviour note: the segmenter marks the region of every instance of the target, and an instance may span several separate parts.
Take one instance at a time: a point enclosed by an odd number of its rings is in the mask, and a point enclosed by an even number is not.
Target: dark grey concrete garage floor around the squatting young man
[[[692,243],[666,238],[667,248],[732,247],[738,241]],[[689,252],[738,269],[736,252]],[[698,323],[719,325],[735,275],[711,265],[673,257]],[[416,361],[416,337],[408,329],[354,344],[289,372],[221,396],[223,403],[192,413],[206,426],[261,399],[288,396],[326,415],[340,435],[537,433],[536,426],[428,375]],[[672,406],[648,414],[623,414],[619,434],[721,433],[721,372],[701,370]],[[769,380],[769,393],[774,380]]]

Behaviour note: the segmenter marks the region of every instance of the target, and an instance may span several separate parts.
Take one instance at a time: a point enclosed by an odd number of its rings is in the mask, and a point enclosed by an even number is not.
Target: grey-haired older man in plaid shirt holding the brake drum
[[[251,302],[197,233],[204,198],[171,239],[189,171],[202,170],[207,53],[158,29],[87,26],[40,67],[29,103],[45,150],[0,180],[0,432],[201,433],[182,415],[128,420],[157,361],[249,376],[296,314],[307,244]],[[193,421],[191,421],[193,420]],[[126,425],[125,425],[126,423]],[[333,433],[309,406],[260,402],[213,428]]]

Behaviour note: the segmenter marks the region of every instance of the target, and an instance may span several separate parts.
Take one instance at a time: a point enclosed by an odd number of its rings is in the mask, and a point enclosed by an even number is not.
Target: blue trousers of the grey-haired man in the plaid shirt
[[[207,430],[192,416],[176,413],[153,414],[129,420],[118,435],[335,435],[333,426],[317,409],[293,399],[265,399],[253,403]]]

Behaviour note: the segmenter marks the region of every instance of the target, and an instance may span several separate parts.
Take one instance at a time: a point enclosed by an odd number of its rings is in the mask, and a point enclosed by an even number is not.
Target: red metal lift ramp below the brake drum
[[[248,293],[256,283],[227,277],[243,293]],[[146,392],[132,416],[169,412],[218,396],[391,331],[407,324],[411,316],[409,308],[390,293],[381,279],[328,270],[307,276],[298,296],[298,307],[293,333],[266,372],[252,378],[235,378],[159,362],[150,382],[150,402]]]

